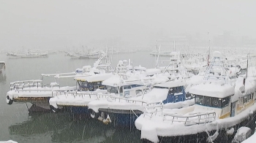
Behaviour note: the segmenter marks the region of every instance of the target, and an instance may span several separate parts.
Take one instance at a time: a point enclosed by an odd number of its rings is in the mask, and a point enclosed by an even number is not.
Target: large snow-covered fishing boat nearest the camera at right
[[[151,107],[138,117],[135,126],[143,141],[231,142],[242,126],[254,131],[255,77],[241,75],[236,82],[229,82],[222,54],[215,51],[213,55],[203,82],[189,90],[195,96],[194,106]]]

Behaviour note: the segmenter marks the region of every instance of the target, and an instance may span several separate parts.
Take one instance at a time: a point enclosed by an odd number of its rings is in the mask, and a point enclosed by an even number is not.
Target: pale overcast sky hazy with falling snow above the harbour
[[[0,48],[74,47],[164,34],[256,34],[256,1],[0,0]]]

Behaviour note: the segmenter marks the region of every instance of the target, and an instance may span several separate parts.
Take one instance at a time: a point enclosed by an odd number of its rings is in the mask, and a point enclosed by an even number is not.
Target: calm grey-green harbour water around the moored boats
[[[118,59],[132,59],[133,66],[153,68],[155,58],[149,52],[113,55],[113,65]],[[41,74],[75,71],[91,65],[96,59],[70,59],[64,53],[48,58],[8,58],[1,54],[6,70],[0,74],[0,141],[12,139],[16,142],[140,142],[140,131],[133,128],[117,128],[104,125],[89,117],[72,117],[69,113],[29,114],[26,104],[6,103],[10,82],[37,80]],[[75,83],[68,79],[62,85]],[[30,106],[30,104],[28,104]]]

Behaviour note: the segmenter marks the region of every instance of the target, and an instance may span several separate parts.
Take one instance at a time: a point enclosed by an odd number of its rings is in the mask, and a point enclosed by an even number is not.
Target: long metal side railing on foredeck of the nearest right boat
[[[164,113],[163,120],[169,120],[173,122],[184,122],[184,125],[195,125],[201,123],[211,123],[215,120],[216,113],[214,111],[210,112],[195,112],[189,115],[181,115],[174,113]]]

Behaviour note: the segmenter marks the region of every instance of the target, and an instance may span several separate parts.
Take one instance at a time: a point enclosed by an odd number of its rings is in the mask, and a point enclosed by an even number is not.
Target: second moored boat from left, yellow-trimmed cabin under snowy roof
[[[102,81],[112,77],[113,74],[93,74],[86,77],[75,77],[78,90],[70,92],[62,92],[59,95],[50,98],[50,109],[53,112],[59,111],[63,107],[68,109],[69,112],[76,114],[86,114],[89,112],[88,103],[97,98],[101,98],[103,93],[107,93],[105,85]]]

